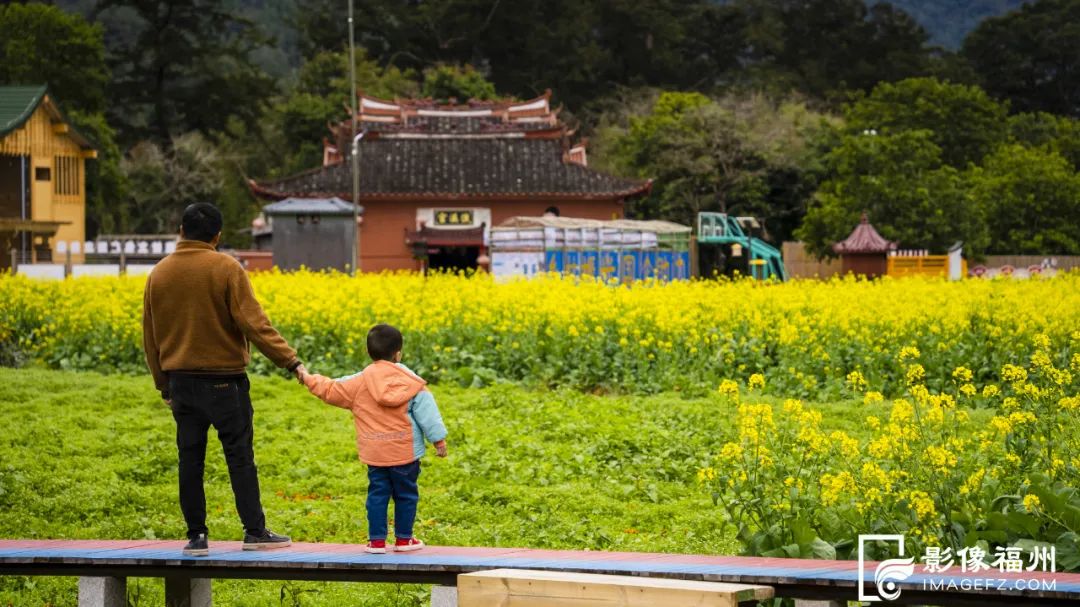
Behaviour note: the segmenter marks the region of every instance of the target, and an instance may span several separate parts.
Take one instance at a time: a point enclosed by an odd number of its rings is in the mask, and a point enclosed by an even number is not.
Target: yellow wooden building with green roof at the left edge
[[[96,157],[48,87],[0,86],[0,268],[13,251],[21,264],[46,261],[57,241],[86,240],[86,160]]]

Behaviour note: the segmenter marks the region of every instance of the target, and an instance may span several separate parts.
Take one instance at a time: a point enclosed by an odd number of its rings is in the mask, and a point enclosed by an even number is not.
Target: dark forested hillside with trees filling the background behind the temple
[[[592,165],[654,179],[636,217],[755,215],[829,254],[868,210],[907,246],[1080,253],[1080,0],[1016,3],[357,1],[356,75],[379,97],[551,90]],[[346,114],[342,0],[59,6],[0,4],[0,84],[46,82],[98,141],[92,233],[213,200],[244,246],[247,179],[318,166]]]

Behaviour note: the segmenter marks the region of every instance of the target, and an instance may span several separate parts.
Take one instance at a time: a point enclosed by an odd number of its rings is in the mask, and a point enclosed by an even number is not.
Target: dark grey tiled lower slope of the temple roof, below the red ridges
[[[270,199],[351,199],[350,164],[253,181],[252,189]],[[559,139],[379,137],[360,146],[362,198],[608,200],[645,193],[650,185],[567,162]]]

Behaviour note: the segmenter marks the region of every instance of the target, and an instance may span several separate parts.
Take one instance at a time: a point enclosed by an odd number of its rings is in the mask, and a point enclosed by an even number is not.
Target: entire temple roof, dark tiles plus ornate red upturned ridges
[[[650,181],[613,177],[573,161],[570,132],[551,92],[512,99],[438,105],[431,99],[360,99],[360,191],[365,199],[618,200]],[[352,199],[351,118],[332,127],[323,167],[276,181],[253,181],[264,198]]]

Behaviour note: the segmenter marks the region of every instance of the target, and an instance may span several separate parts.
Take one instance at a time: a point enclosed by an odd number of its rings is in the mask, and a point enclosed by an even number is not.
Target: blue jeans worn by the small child
[[[420,501],[417,478],[420,460],[402,466],[367,467],[367,539],[387,539],[387,507],[394,500],[394,537],[413,537],[416,504]]]

